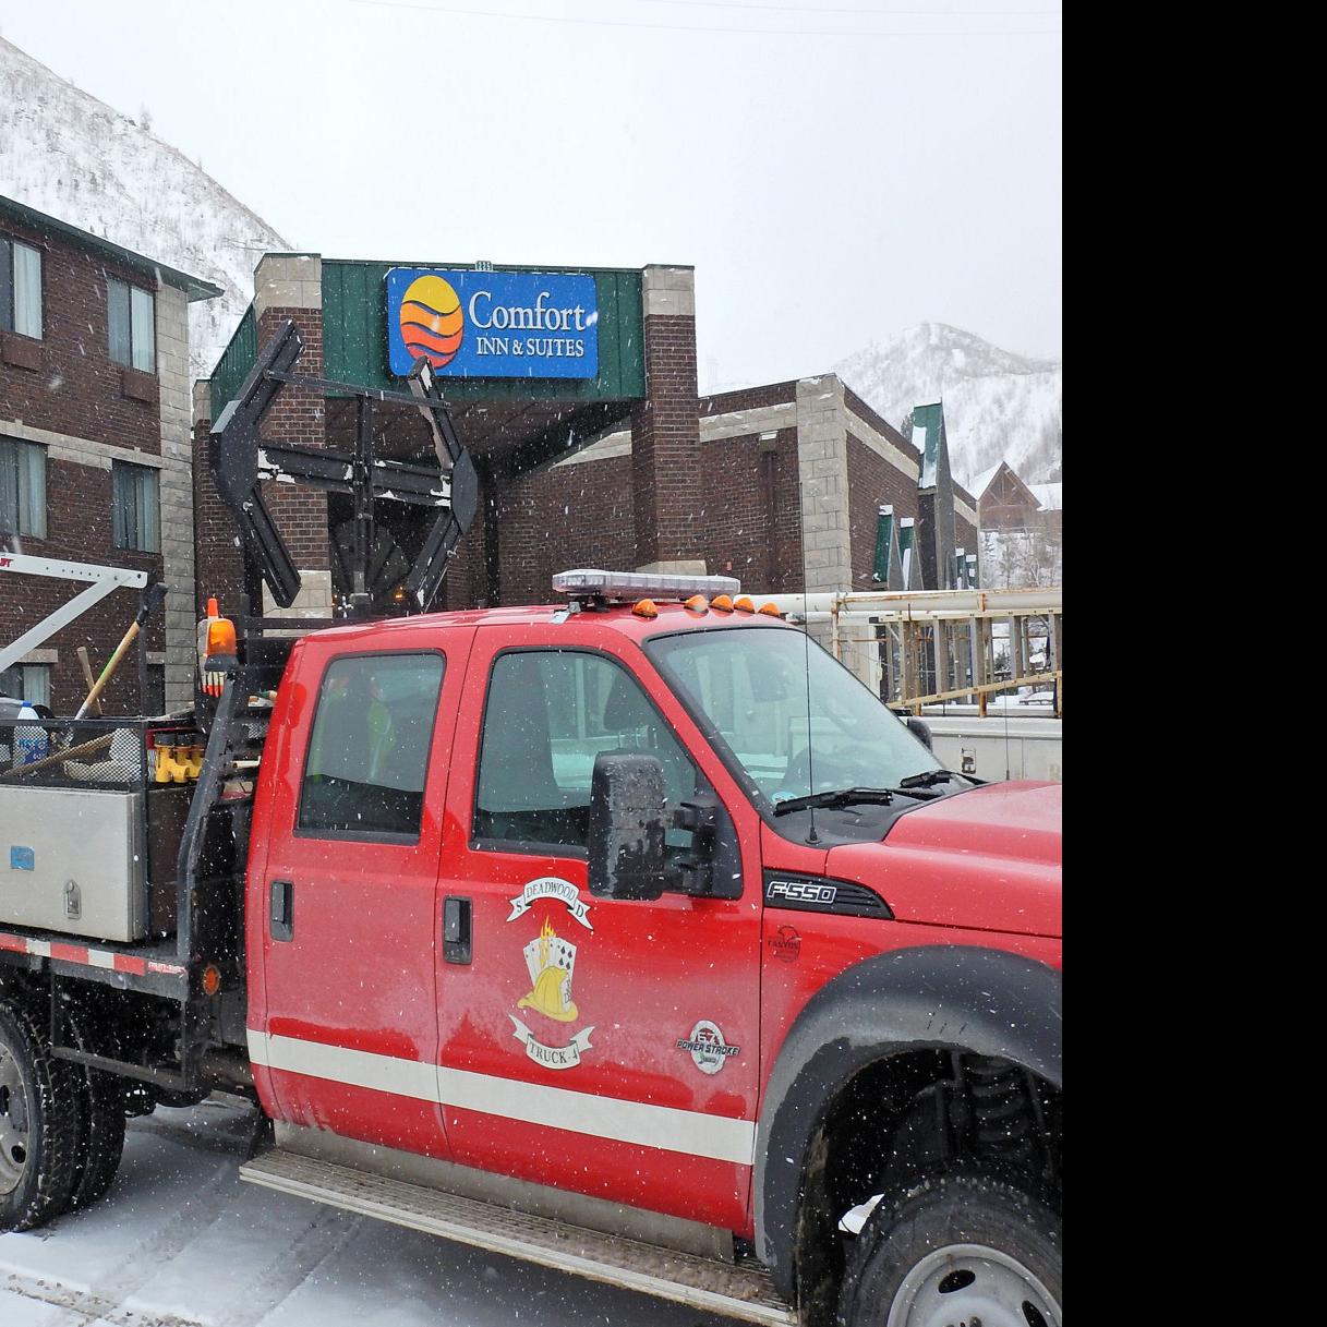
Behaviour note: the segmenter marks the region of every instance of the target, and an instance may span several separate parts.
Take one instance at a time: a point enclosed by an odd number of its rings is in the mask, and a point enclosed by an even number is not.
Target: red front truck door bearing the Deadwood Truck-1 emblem
[[[754,811],[633,645],[593,624],[557,632],[556,650],[547,628],[543,645],[519,626],[475,638],[439,890],[443,926],[450,908],[468,940],[439,955],[447,1136],[468,1165],[743,1230],[758,853],[742,853],[736,900],[592,897],[594,756],[648,751],[671,802],[715,791],[748,843]]]

